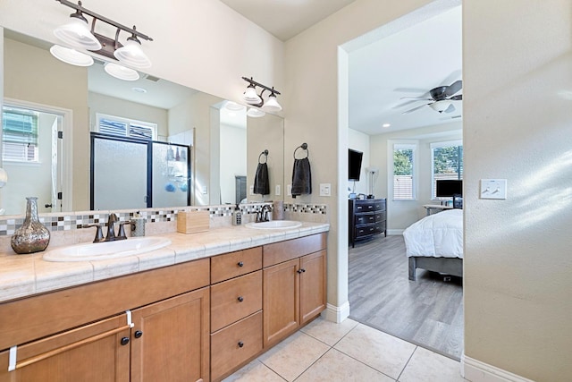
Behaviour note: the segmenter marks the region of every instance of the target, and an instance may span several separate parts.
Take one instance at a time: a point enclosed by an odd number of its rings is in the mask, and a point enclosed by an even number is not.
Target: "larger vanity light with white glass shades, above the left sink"
[[[56,1],[75,10],[75,13],[71,13],[70,15],[70,22],[54,30],[55,37],[59,38],[65,45],[72,47],[73,49],[69,47],[59,46],[52,47],[50,52],[56,58],[62,60],[67,64],[89,66],[89,64],[87,64],[89,60],[86,57],[91,57],[85,53],[75,50],[83,49],[96,53],[97,55],[104,55],[105,57],[111,58],[114,61],[117,60],[121,64],[125,64],[132,68],[145,69],[151,66],[151,61],[141,48],[141,41],[139,38],[143,38],[147,41],[153,41],[153,38],[140,33],[138,30],[136,30],[135,26],[133,26],[131,29],[118,22],[107,19],[106,17],[101,16],[95,12],[89,11],[87,8],[84,8],[81,5],[80,1],[78,4],[73,4],[67,0]],[[88,20],[85,18],[84,14],[88,14],[93,18],[91,22],[91,29],[88,27]],[[107,38],[96,33],[96,21],[103,21],[116,28],[117,31],[115,32],[115,38]],[[121,31],[125,31],[130,34],[130,37],[127,38],[125,45],[122,45],[119,42],[119,34]],[[93,64],[93,59],[91,59],[91,64]],[[132,71],[132,69],[129,71]],[[132,72],[130,72],[130,74],[127,76],[130,78],[128,81],[132,81],[131,79],[134,77]],[[137,76],[139,78],[139,73]]]

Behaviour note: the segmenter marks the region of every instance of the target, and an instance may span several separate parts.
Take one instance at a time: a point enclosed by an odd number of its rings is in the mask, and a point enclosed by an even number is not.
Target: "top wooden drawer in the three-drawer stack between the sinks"
[[[211,258],[211,283],[246,275],[262,268],[262,247],[237,250]]]

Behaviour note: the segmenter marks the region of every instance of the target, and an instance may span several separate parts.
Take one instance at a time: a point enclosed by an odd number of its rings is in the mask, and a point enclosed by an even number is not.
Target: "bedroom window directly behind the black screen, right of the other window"
[[[435,189],[438,180],[463,179],[463,142],[450,140],[432,143],[431,164],[431,197],[437,199]]]

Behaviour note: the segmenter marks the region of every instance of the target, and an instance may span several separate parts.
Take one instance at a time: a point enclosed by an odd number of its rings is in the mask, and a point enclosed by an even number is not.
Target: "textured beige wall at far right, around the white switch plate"
[[[569,0],[464,3],[465,354],[537,381],[572,375],[571,30]]]

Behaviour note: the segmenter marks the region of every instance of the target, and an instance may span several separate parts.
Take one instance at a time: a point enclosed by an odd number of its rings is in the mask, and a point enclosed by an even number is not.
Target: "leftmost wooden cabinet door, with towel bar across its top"
[[[8,371],[10,351],[0,352],[0,381],[128,382],[129,335],[122,315],[18,346],[13,371]]]

